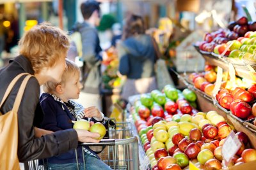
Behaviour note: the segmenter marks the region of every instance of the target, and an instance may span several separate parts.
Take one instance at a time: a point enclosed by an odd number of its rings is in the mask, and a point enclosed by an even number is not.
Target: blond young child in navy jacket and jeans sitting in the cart
[[[67,67],[61,77],[60,83],[48,81],[44,84],[44,91],[40,97],[40,104],[44,110],[42,129],[48,131],[61,131],[72,129],[72,120],[92,118],[93,122],[103,122],[104,115],[94,106],[84,109],[81,104],[70,99],[78,99],[81,89],[79,83],[79,67],[70,60],[66,60]],[[77,149],[79,169],[84,169],[83,154],[86,169],[111,169],[104,164],[90,148]],[[51,157],[48,160],[50,169],[77,169],[75,150]]]

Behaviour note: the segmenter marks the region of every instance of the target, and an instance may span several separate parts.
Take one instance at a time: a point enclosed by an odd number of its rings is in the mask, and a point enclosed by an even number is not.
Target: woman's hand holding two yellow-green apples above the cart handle
[[[99,140],[97,138],[100,138],[100,134],[92,133],[86,130],[76,129],[78,141],[87,143],[87,142],[93,142],[93,143],[99,143]]]

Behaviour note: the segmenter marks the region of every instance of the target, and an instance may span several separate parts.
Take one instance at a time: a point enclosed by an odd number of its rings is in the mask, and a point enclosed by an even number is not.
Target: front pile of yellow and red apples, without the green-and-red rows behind
[[[170,121],[153,117],[136,120],[135,124],[144,126],[139,134],[155,170],[188,168],[189,160],[198,162],[196,166],[201,169],[221,169],[221,149],[233,128],[216,111],[198,112],[193,116],[185,114]],[[246,149],[246,134],[237,132],[236,136],[242,146],[229,166],[256,160],[256,150]]]

